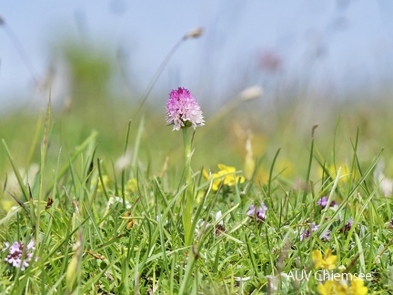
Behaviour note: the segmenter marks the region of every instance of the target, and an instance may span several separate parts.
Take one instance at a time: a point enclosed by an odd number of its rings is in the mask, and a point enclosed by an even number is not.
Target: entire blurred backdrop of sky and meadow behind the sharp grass
[[[9,1],[0,17],[0,137],[21,167],[51,97],[54,158],[96,130],[110,165],[130,120],[133,152],[143,119],[141,165],[181,170],[182,138],[165,126],[165,105],[184,86],[207,121],[196,130],[196,169],[242,169],[252,156],[265,181],[281,148],[277,171],[303,177],[317,124],[328,165],[352,159],[358,134],[359,156],[385,148],[393,172],[391,1]],[[181,41],[196,28],[204,33]],[[260,93],[244,97],[249,87]]]

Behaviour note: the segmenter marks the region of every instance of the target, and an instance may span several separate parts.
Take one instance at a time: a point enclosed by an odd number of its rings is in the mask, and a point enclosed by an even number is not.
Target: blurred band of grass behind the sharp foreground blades
[[[135,102],[137,99],[134,97],[130,100]],[[181,138],[171,131],[171,127],[165,125],[165,101],[163,94],[163,97],[156,99],[154,107],[145,107],[141,115],[145,117],[145,125],[139,151],[140,161],[153,174],[159,173],[166,159],[169,168],[178,166],[182,160]],[[208,108],[209,103],[202,103],[203,107]],[[49,152],[57,153],[61,147],[64,153],[70,153],[96,130],[99,154],[115,162],[116,158],[122,156],[119,146],[125,141],[129,121],[129,140],[131,143],[135,140],[140,118],[133,120],[135,108],[136,103],[116,98],[107,98],[97,104],[94,99],[90,99],[83,109],[71,107],[65,110],[54,107],[50,131],[52,147]],[[334,153],[338,161],[348,161],[346,157],[351,151],[351,140],[358,133],[358,152],[361,156],[369,158],[378,153],[380,148],[385,148],[384,158],[388,164],[393,147],[393,134],[389,131],[390,109],[391,103],[388,100],[378,100],[378,104],[363,103],[360,106],[340,103],[339,106],[324,109],[309,108],[305,101],[288,103],[279,108],[265,108],[255,101],[237,107],[215,126],[209,126],[209,120],[215,116],[214,112],[210,112],[206,117],[206,130],[196,130],[193,165],[215,165],[230,159],[231,163],[228,164],[241,168],[246,157],[247,138],[251,138],[253,155],[261,160],[261,169],[270,166],[277,148],[281,148],[279,158],[288,163],[288,175],[299,178],[305,171],[298,162],[302,163],[307,158],[311,129],[315,124],[318,125],[315,131],[317,148],[324,158],[332,158]],[[41,124],[40,127],[43,127],[40,120],[43,120],[43,115],[40,115],[39,110],[15,111],[0,118],[0,135],[5,138],[21,167],[28,164],[37,126]],[[39,155],[39,141],[35,144],[33,162],[37,161]],[[5,153],[1,153],[0,169],[3,171],[3,178],[9,168]],[[393,172],[389,165],[387,169],[388,172]]]

